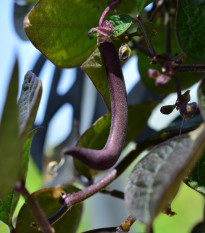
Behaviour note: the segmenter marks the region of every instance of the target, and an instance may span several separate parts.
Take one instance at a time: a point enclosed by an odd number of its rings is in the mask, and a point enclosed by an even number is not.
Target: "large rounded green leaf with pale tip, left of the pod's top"
[[[120,4],[119,13],[132,11],[135,4],[136,0]],[[25,31],[55,65],[75,67],[96,48],[88,31],[98,26],[106,6],[107,0],[40,0],[24,20]]]

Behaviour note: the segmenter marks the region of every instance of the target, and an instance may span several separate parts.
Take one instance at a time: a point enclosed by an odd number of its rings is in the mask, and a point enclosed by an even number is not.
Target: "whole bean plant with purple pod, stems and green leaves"
[[[176,214],[172,202],[182,182],[205,195],[205,1],[27,2],[35,3],[24,18],[31,43],[58,67],[80,66],[109,113],[88,128],[75,146],[64,147],[58,161],[50,165],[50,170],[58,172],[65,159],[72,157],[75,179],[29,193],[29,148],[33,135],[41,130],[32,125],[42,84],[28,71],[16,104],[16,61],[0,125],[0,220],[12,233],[76,232],[83,202],[102,192],[124,200],[129,215],[118,226],[87,232],[134,232],[135,221],[144,224],[146,233],[155,232],[153,223],[159,213]],[[150,3],[151,10],[146,11]],[[138,57],[141,81],[147,89],[161,99],[177,94],[174,103],[161,107],[161,114],[177,110],[181,117],[180,125],[173,123],[141,140],[137,139],[158,102],[128,106],[121,67],[132,56]],[[191,100],[189,90],[195,83],[197,103]],[[122,158],[122,150],[136,140],[135,148],[125,150]],[[133,163],[124,192],[109,189]],[[25,204],[14,219],[20,196]],[[202,222],[190,230],[200,232],[205,232],[205,212]]]

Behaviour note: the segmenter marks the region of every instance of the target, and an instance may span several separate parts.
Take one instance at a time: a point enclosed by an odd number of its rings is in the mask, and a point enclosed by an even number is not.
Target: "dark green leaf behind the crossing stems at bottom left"
[[[46,216],[50,217],[61,207],[58,200],[62,191],[73,193],[78,191],[78,189],[69,185],[65,188],[57,187],[42,189],[32,195],[36,198]],[[65,233],[69,231],[69,233],[75,233],[80,223],[82,207],[82,204],[72,207],[72,209],[63,216],[63,218],[53,225],[55,232]],[[17,218],[16,231],[24,233],[39,232],[37,229],[33,229],[31,227],[33,222],[35,222],[35,219],[30,214],[27,205],[24,204]]]

